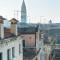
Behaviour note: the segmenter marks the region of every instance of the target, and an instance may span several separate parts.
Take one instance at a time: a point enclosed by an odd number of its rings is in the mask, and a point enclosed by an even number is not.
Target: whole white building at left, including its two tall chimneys
[[[18,35],[17,20],[11,19],[9,34],[5,33],[3,20],[4,18],[0,16],[0,60],[23,60],[22,38]]]

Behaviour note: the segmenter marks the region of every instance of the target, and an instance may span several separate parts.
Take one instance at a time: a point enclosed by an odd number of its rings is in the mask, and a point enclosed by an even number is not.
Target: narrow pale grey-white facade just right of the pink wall
[[[39,30],[39,27],[38,27],[37,39],[36,39],[36,51],[38,52],[38,54],[36,56],[37,60],[46,60],[43,35],[44,35],[43,32],[41,33],[41,31]]]

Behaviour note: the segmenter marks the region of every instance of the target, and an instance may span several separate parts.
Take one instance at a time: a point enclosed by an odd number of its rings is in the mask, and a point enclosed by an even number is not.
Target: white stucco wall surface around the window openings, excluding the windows
[[[10,40],[10,39],[7,39]],[[19,44],[21,45],[19,54]],[[15,47],[15,57],[12,58],[12,47]],[[11,60],[23,60],[23,50],[22,50],[22,40],[18,37],[14,41],[10,41],[8,43],[0,44],[0,53],[2,53],[3,60],[7,60],[7,50],[10,49],[11,52]]]

